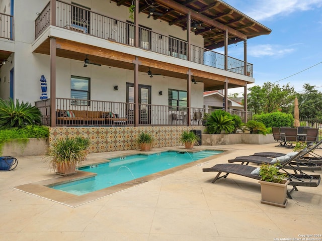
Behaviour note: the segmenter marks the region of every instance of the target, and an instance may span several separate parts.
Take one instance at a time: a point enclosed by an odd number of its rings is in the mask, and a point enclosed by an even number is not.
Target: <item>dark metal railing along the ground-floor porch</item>
[[[42,113],[42,124],[50,126],[50,99],[36,101],[35,105]],[[138,104],[138,126],[202,126],[207,114],[216,109]],[[228,110],[245,122],[245,111]],[[81,100],[56,98],[56,126],[134,126],[134,103],[101,100]],[[252,112],[247,112],[252,119]]]

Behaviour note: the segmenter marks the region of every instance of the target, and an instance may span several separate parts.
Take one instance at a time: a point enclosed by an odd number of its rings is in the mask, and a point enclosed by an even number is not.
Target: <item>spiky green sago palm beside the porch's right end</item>
[[[235,129],[231,114],[221,109],[210,114],[205,126],[209,134],[220,134],[222,132],[228,134],[232,133]]]

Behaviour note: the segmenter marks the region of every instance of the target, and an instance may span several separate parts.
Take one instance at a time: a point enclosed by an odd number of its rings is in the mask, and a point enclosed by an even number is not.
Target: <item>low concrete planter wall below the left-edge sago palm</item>
[[[5,143],[1,150],[1,156],[39,156],[46,153],[48,138],[17,139]]]

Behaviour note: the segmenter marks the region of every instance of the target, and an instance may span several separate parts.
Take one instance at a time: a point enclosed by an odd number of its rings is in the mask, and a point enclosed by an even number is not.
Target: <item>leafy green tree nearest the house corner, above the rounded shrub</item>
[[[255,114],[271,113],[278,110],[287,112],[292,108],[292,101],[295,98],[294,87],[289,84],[283,85],[266,82],[249,88],[247,95],[247,106],[249,111]]]

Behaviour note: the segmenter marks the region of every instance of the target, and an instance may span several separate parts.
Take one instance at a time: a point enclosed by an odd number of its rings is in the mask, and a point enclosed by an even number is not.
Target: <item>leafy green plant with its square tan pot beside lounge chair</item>
[[[286,207],[287,204],[287,185],[286,174],[279,172],[279,164],[263,164],[260,167],[261,180],[261,203],[270,204],[278,207]]]

